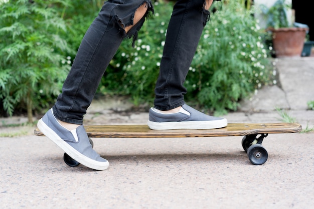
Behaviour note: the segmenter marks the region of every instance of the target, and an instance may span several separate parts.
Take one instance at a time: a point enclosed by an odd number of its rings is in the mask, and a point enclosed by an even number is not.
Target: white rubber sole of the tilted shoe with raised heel
[[[56,134],[46,123],[40,119],[38,121],[37,127],[45,136],[47,136],[50,140],[52,140],[55,144],[57,144],[65,153],[67,153],[74,160],[78,161],[82,165],[86,167],[92,168],[94,170],[105,170],[109,167],[109,162],[99,162],[93,159],[86,157],[81,154],[79,151],[70,146],[67,142],[65,142],[60,136]]]

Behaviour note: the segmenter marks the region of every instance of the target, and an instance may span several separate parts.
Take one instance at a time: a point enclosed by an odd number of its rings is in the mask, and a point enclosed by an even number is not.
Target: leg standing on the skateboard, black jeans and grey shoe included
[[[205,115],[187,106],[184,101],[187,89],[183,84],[209,20],[208,9],[212,2],[179,0],[174,6],[155,87],[154,108],[149,110],[148,125],[151,129],[207,129],[227,125],[226,119]],[[178,113],[180,110],[184,112]]]

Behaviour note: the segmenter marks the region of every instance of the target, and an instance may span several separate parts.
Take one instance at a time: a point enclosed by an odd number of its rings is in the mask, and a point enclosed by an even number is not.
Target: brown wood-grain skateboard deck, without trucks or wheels
[[[88,137],[161,138],[161,137],[212,137],[245,136],[263,133],[296,133],[302,130],[297,123],[230,123],[218,129],[151,130],[147,125],[94,125],[85,126]],[[39,129],[35,135],[44,136]]]

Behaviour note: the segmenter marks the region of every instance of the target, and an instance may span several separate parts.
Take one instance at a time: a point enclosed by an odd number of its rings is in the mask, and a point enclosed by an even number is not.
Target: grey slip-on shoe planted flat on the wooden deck
[[[147,125],[153,130],[214,129],[223,128],[227,119],[206,115],[184,104],[178,113],[165,114],[155,108],[149,109]]]

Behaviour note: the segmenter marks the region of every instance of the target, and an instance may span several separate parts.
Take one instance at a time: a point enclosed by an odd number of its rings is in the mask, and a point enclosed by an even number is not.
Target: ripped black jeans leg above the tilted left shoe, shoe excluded
[[[62,93],[53,106],[54,114],[59,120],[79,125],[83,123],[83,115],[123,38],[130,38],[137,33],[136,24],[141,26],[148,11],[152,10],[148,1],[124,2],[105,2],[86,32]]]

